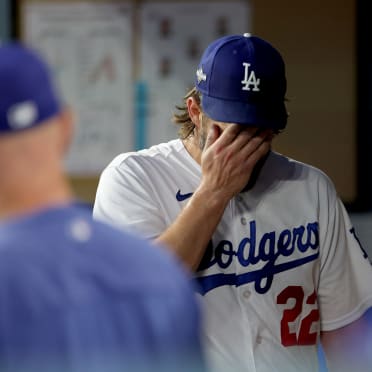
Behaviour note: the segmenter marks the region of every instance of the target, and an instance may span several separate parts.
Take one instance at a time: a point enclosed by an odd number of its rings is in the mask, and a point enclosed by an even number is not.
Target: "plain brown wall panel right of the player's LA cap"
[[[286,60],[287,131],[275,148],[325,171],[346,202],[356,197],[353,0],[253,0],[253,32]]]

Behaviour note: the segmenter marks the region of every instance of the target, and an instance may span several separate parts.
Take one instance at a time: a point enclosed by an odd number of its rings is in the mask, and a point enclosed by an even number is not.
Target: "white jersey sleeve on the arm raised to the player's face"
[[[138,163],[126,159],[109,165],[97,187],[93,217],[142,238],[156,238],[165,230],[151,180]]]

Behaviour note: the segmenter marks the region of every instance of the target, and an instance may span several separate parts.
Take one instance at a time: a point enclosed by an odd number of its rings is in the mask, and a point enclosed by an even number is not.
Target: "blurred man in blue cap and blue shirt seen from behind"
[[[74,200],[71,125],[40,56],[1,46],[0,370],[204,370],[184,269]]]

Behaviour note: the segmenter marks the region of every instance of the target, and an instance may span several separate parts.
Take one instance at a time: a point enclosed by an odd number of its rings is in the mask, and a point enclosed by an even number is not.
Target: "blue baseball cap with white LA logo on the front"
[[[287,124],[284,61],[259,37],[246,33],[212,42],[202,55],[195,86],[213,120],[277,130]]]

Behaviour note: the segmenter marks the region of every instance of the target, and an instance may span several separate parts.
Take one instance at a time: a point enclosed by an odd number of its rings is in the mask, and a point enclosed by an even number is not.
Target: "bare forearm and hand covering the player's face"
[[[226,205],[247,184],[254,166],[269,151],[271,139],[271,131],[252,136],[252,132],[230,124],[219,135],[218,128],[212,126],[201,155],[201,183],[156,241],[195,270]]]

